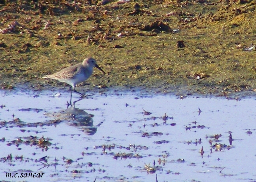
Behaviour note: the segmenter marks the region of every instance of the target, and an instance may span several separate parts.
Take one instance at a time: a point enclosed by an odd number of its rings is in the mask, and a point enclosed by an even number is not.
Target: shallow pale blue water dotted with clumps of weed
[[[256,180],[255,99],[106,92],[67,109],[67,91],[0,93],[1,180]]]

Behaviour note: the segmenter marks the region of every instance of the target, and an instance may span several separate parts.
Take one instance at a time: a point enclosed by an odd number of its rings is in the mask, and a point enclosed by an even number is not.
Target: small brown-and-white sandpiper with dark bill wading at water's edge
[[[87,80],[91,76],[91,74],[93,74],[94,67],[98,68],[105,74],[105,72],[97,65],[96,60],[89,57],[89,58],[85,58],[82,63],[69,66],[52,75],[45,75],[42,78],[55,79],[60,82],[65,82],[69,84],[71,86],[70,87],[71,96],[72,96],[72,87],[74,92],[80,94],[81,96],[86,96],[76,91],[75,86],[76,84]]]

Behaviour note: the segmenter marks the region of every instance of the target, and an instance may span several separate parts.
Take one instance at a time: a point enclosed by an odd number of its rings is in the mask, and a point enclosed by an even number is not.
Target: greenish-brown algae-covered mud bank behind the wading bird
[[[91,87],[254,95],[255,7],[251,0],[3,0],[1,88],[59,85],[39,78],[92,56],[107,74],[95,72]]]

